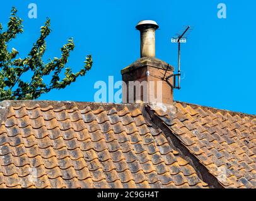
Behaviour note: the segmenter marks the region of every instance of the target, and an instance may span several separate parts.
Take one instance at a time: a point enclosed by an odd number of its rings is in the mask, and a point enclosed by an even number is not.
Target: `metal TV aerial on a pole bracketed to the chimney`
[[[165,71],[165,75],[163,77],[163,80],[166,80],[166,82],[173,87],[173,89],[181,89],[180,87],[180,43],[187,43],[187,36],[191,33],[192,28],[191,26],[183,26],[182,30],[180,30],[175,36],[172,38],[172,43],[178,43],[178,73],[172,74],[168,77],[165,77],[167,68]],[[169,79],[173,77],[173,84],[169,82]],[[176,80],[178,79],[178,84],[176,85]]]

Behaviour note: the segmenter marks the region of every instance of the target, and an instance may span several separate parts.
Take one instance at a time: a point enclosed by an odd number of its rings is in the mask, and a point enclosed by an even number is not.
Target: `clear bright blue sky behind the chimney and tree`
[[[28,4],[36,3],[38,18],[28,18]],[[217,17],[219,3],[227,6],[227,18]],[[46,58],[60,57],[62,45],[73,37],[76,48],[69,67],[78,71],[87,54],[94,65],[86,77],[64,90],[42,95],[47,100],[93,101],[98,80],[108,75],[121,80],[120,70],[139,58],[138,21],[153,19],[160,25],[156,33],[156,57],[177,66],[177,46],[170,38],[185,24],[194,26],[182,46],[182,90],[175,100],[256,114],[255,104],[255,1],[168,0],[168,1],[49,1],[8,0],[1,2],[0,21],[8,22],[11,6],[24,19],[25,32],[13,45],[25,56],[49,17],[52,34],[47,39]]]

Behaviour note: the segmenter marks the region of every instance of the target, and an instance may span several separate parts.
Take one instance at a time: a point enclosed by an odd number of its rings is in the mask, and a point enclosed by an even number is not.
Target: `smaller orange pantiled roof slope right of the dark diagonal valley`
[[[182,102],[175,106],[175,115],[155,114],[209,173],[224,187],[255,188],[255,116]]]

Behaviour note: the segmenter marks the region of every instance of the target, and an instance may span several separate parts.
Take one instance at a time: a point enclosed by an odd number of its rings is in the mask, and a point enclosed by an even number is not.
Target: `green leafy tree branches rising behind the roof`
[[[71,68],[65,68],[69,54],[74,50],[72,38],[62,46],[61,58],[49,59],[47,63],[42,60],[46,50],[45,38],[51,31],[50,19],[41,27],[40,37],[33,44],[28,56],[17,58],[19,53],[15,48],[8,50],[8,43],[23,32],[23,20],[18,18],[16,13],[17,10],[13,8],[6,31],[3,31],[0,23],[0,100],[37,99],[52,89],[64,89],[91,69],[91,55],[86,57],[84,67],[79,72],[74,73]],[[24,80],[24,77],[27,77],[26,73],[30,77]],[[45,77],[50,78],[47,83],[44,82]]]

